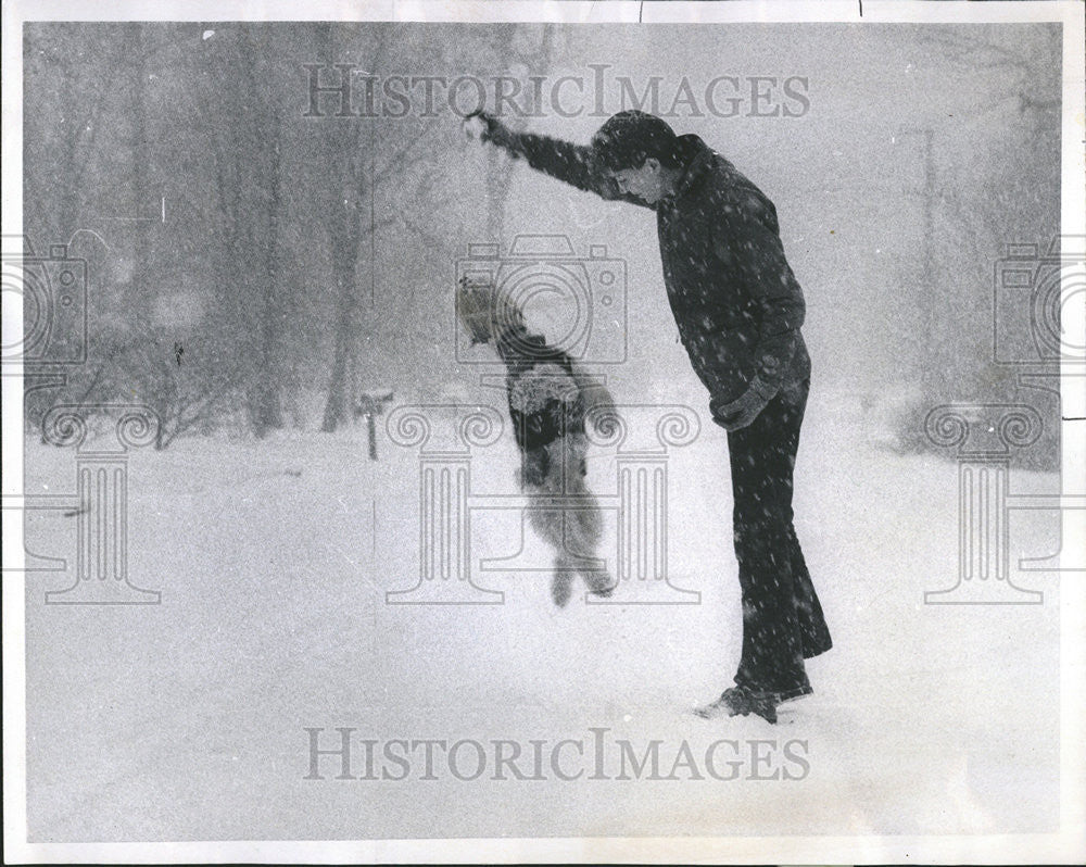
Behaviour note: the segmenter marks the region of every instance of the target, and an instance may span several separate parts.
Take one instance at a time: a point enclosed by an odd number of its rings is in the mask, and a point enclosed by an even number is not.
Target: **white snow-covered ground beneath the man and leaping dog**
[[[129,574],[162,604],[46,605],[71,578],[27,579],[31,841],[1053,830],[1056,578],[1014,576],[1043,605],[924,605],[957,580],[957,468],[880,445],[855,395],[812,395],[797,467],[797,529],[835,641],[808,664],[815,695],[776,727],[690,714],[729,684],[741,636],[724,435],[696,393],[679,402],[702,430],[668,458],[668,569],[699,604],[577,594],[559,611],[544,571],[477,573],[502,604],[387,604],[419,580],[419,464],[383,419],[376,463],[362,427],[134,452]],[[515,493],[512,444],[483,451],[472,495]],[[614,492],[614,455],[590,465],[592,487]],[[27,493],[74,485],[71,450],[28,447]],[[29,549],[73,561],[75,520],[35,514]],[[1059,546],[1052,515],[1012,530],[1014,563]],[[614,522],[608,533],[614,556]],[[513,554],[518,535],[515,511],[480,519],[472,557]],[[545,565],[530,532],[523,545],[518,562]],[[356,729],[359,776],[367,739],[377,776],[399,772],[380,757],[388,741],[507,739],[544,779],[494,779],[492,752],[476,780],[441,752],[437,779],[420,779],[420,752],[405,780],[334,779],[327,756],[325,779],[305,779],[307,727],[324,749],[336,727]],[[607,730],[608,779],[591,779],[590,729]],[[559,751],[579,779],[550,764],[564,739],[584,750]],[[714,779],[705,754],[721,739],[736,743]],[[639,757],[661,742],[656,779],[617,778],[621,740]],[[703,779],[671,774],[684,742]],[[476,763],[468,744],[462,776]]]

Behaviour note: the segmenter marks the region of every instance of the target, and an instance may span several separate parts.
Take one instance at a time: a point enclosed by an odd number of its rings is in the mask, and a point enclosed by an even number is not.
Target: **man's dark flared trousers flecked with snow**
[[[784,387],[745,428],[728,434],[743,655],[735,684],[811,691],[804,659],[830,650],[830,630],[792,524],[792,474],[810,380]]]

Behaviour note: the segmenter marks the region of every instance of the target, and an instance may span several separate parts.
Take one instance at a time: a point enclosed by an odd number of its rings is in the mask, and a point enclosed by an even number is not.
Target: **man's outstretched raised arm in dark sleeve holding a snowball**
[[[478,121],[481,124],[479,138],[482,141],[489,141],[505,149],[513,156],[527,160],[538,172],[571,184],[580,190],[594,192],[607,200],[647,206],[635,196],[622,193],[615,179],[595,166],[592,148],[588,146],[573,144],[534,133],[515,133],[487,112],[477,112],[465,121]]]

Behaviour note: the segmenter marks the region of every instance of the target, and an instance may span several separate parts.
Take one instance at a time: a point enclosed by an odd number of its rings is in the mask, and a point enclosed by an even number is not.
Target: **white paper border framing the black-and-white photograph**
[[[862,15],[860,13],[862,9]],[[394,21],[555,23],[1007,23],[1063,24],[1061,235],[1086,235],[1086,138],[1083,74],[1084,7],[1076,0],[1037,2],[897,2],[896,0],[780,0],[780,2],[536,2],[535,0],[5,0],[3,4],[2,179],[4,236],[22,234],[23,24],[29,21]],[[1066,287],[1064,287],[1066,288]],[[11,293],[8,293],[11,294]],[[1065,314],[1086,321],[1078,293]],[[5,335],[22,334],[22,305],[4,300]],[[4,343],[9,341],[5,338]],[[1064,372],[1065,373],[1065,372]],[[3,377],[3,493],[22,493],[22,376]],[[1086,379],[1063,377],[1063,415],[1086,416]],[[1064,487],[1086,479],[1086,436],[1081,420],[1062,429]],[[1073,483],[1073,482],[1072,482]],[[1077,492],[1076,492],[1077,493]],[[1086,526],[1064,522],[1064,555],[1086,549]],[[3,523],[4,567],[18,569],[23,525]],[[9,574],[11,575],[11,574]],[[1078,863],[1086,856],[1086,582],[1060,592],[1061,779],[1060,830],[1049,834],[954,837],[728,837],[590,839],[451,839],[378,841],[207,841],[180,843],[27,843],[24,581],[3,581],[3,804],[8,863]]]

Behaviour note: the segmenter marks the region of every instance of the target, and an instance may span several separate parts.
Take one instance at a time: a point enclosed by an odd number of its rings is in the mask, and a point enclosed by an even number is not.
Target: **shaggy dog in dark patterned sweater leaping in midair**
[[[554,550],[555,604],[569,602],[578,574],[590,592],[610,595],[614,585],[606,569],[578,564],[594,556],[603,536],[599,506],[584,485],[585,416],[595,410],[590,424],[606,424],[614,413],[610,394],[569,355],[529,331],[523,312],[501,290],[460,280],[456,312],[472,344],[493,343],[505,364],[521,456],[517,478],[529,498],[532,529]]]

